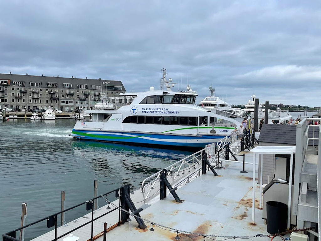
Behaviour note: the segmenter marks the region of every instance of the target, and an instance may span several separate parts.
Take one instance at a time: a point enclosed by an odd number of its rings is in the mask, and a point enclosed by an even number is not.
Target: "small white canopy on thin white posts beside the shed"
[[[257,146],[250,152],[253,152],[253,189],[252,189],[252,221],[255,223],[255,165],[256,154],[285,154],[291,155],[290,158],[290,178],[289,178],[289,198],[288,198],[288,229],[290,228],[290,215],[291,215],[291,191],[292,191],[292,166],[293,166],[293,153],[295,153],[295,146]],[[260,175],[260,208],[262,206],[262,177],[263,177],[263,155],[261,155],[261,175]]]

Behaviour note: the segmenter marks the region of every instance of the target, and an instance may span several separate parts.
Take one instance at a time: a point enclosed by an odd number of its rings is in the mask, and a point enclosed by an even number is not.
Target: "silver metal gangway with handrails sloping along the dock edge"
[[[180,187],[199,177],[202,171],[204,153],[206,153],[207,159],[212,166],[222,165],[224,160],[229,159],[229,155],[236,159],[235,156],[243,151],[242,143],[243,139],[238,140],[237,131],[233,131],[218,142],[209,144],[204,149],[169,165],[165,168],[169,183],[173,187]],[[144,203],[152,201],[153,198],[157,199],[156,196],[160,193],[161,173],[162,171],[159,171],[143,180],[141,193],[143,194]]]

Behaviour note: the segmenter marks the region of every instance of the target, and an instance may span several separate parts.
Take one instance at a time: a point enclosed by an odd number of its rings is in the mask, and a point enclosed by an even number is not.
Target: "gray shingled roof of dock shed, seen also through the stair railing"
[[[278,124],[263,124],[259,142],[280,143],[295,145],[297,134],[296,125],[278,125]],[[309,128],[308,137],[313,137],[313,128]],[[314,138],[319,138],[318,128],[314,130]],[[309,140],[309,145],[312,145],[312,140]],[[314,145],[318,145],[318,141],[314,141]]]

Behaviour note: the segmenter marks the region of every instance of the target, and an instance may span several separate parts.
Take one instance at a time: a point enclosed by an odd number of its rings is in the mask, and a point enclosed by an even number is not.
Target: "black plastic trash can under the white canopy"
[[[288,224],[288,205],[277,201],[266,202],[266,224],[269,234],[286,231]]]

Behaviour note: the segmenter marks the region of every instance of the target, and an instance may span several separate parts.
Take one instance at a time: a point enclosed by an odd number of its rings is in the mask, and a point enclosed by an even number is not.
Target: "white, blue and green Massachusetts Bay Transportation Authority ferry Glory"
[[[165,79],[164,72],[163,78]],[[166,90],[121,93],[132,103],[118,110],[94,108],[89,121],[77,121],[71,136],[84,140],[138,145],[204,147],[234,131],[240,123],[195,105],[196,93]],[[222,120],[227,123],[219,123]]]

